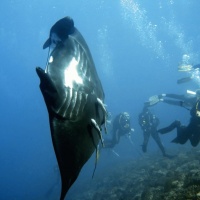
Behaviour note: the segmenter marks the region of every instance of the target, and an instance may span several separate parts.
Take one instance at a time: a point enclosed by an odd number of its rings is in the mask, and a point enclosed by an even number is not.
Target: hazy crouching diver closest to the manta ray
[[[113,121],[113,135],[112,139],[104,140],[104,148],[113,148],[119,143],[120,137],[124,135],[131,135],[130,115],[127,112],[120,113]]]

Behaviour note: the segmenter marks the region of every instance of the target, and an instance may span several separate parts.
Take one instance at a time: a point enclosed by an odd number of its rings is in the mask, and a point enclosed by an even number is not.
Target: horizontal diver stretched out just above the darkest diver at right
[[[184,107],[184,108],[189,109],[189,110],[195,105],[199,96],[200,96],[200,89],[198,89],[196,91],[196,95],[194,95],[192,97],[185,96],[185,95],[179,95],[179,94],[161,94],[161,95],[158,95],[159,100],[161,102],[171,104],[171,105],[175,105],[175,106],[181,106],[181,107]]]

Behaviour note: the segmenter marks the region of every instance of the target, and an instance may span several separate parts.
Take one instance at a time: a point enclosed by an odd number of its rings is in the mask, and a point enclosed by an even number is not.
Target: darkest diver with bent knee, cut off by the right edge
[[[175,120],[169,126],[159,129],[158,132],[165,134],[177,128],[177,137],[172,142],[185,144],[189,140],[191,145],[196,147],[200,141],[200,99],[192,107],[190,115],[191,118],[188,126],[181,125],[179,121]]]

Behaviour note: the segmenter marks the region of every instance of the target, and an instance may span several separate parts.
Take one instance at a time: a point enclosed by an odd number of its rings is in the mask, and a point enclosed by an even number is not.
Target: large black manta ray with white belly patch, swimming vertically
[[[46,69],[36,68],[49,113],[52,142],[64,199],[102,140],[104,92],[90,50],[70,17],[57,21],[43,48],[49,47]]]

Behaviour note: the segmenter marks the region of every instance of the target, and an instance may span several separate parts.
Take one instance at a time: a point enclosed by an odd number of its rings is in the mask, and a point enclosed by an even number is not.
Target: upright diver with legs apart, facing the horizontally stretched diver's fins
[[[138,121],[139,121],[139,125],[140,125],[141,129],[143,130],[143,135],[144,135],[142,151],[144,153],[147,152],[147,145],[148,145],[149,138],[151,135],[152,138],[157,143],[158,147],[160,148],[163,156],[169,157],[169,158],[172,157],[165,153],[165,149],[164,149],[163,144],[158,135],[157,127],[158,127],[160,121],[155,115],[153,115],[150,112],[150,110],[149,110],[148,106],[146,106],[146,104],[144,104],[143,111],[139,114]]]

